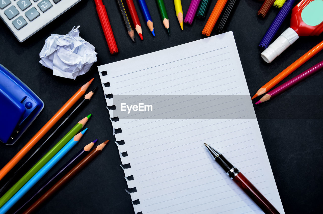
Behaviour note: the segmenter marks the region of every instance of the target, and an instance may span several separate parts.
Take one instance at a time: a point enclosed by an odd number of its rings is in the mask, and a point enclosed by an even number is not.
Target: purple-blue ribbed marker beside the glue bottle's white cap
[[[265,49],[268,48],[268,46],[270,45],[271,40],[273,39],[273,37],[277,33],[279,27],[282,25],[282,23],[285,20],[286,16],[288,15],[290,10],[292,9],[294,3],[295,3],[295,0],[287,0],[284,3],[284,5],[280,9],[279,13],[277,14],[275,20],[273,21],[273,23],[271,23],[271,25],[268,28],[265,36],[261,40],[261,42],[259,44],[259,47],[262,47],[262,48],[265,48]]]

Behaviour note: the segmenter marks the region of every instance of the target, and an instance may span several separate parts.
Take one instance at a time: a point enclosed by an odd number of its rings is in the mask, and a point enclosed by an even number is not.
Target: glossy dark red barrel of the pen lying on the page
[[[266,214],[280,214],[241,172],[233,180]]]

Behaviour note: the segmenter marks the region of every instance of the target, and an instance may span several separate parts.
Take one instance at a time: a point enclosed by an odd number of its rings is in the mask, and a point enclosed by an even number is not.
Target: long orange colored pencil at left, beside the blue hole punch
[[[94,79],[94,78],[93,78]],[[80,99],[89,85],[90,80],[83,85],[76,93],[54,114],[52,118],[33,136],[22,149],[0,170],[0,180],[29,152],[29,150],[57,123],[57,121]]]

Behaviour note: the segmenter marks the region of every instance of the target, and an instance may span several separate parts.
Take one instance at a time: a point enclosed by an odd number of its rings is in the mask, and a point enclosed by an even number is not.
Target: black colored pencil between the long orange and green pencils
[[[78,106],[67,116],[67,118],[55,129],[55,131],[44,141],[43,144],[41,144],[36,151],[30,155],[30,157],[19,167],[19,169],[14,173],[14,175],[5,183],[5,185],[3,185],[3,187],[1,187],[0,189],[0,196],[4,193],[4,190],[6,189],[6,187],[13,181],[13,179],[20,173],[20,170],[22,170],[24,168],[24,166],[28,163],[28,161],[39,151],[39,149],[44,146],[47,141],[57,132],[57,130],[63,125],[65,124],[65,122],[72,116],[72,114],[74,114],[74,112],[77,112],[78,109],[83,109],[91,100],[91,97],[93,96],[93,94],[95,93],[95,91],[98,89],[98,87],[96,87],[95,89],[93,89],[92,91],[90,91],[89,93],[87,93],[84,96],[84,99],[78,104]]]

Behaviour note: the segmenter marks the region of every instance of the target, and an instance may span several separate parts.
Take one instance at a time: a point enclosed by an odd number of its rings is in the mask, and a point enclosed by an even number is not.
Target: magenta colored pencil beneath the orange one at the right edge
[[[276,89],[269,91],[258,102],[256,102],[256,104],[265,102],[265,101],[267,101],[267,100],[269,100],[271,98],[276,97],[277,95],[279,95],[279,94],[283,93],[284,91],[290,89],[291,87],[293,87],[294,85],[296,85],[300,81],[305,80],[307,77],[311,76],[312,74],[318,72],[321,69],[323,69],[323,61],[320,61],[318,64],[316,64],[316,65],[310,67],[309,69],[307,69],[306,71],[298,74],[296,77],[294,77],[293,79],[288,80],[284,84],[278,86]]]

